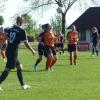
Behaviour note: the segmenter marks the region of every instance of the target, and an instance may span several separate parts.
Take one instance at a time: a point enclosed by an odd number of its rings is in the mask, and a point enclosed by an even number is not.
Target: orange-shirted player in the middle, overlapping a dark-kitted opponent
[[[57,42],[57,38],[55,37],[55,34],[51,32],[51,26],[50,24],[45,24],[45,34],[43,36],[45,41],[45,49],[47,54],[47,66],[46,70],[50,71],[53,70],[52,66],[56,63],[57,57],[56,57],[56,50],[54,47],[54,44]]]

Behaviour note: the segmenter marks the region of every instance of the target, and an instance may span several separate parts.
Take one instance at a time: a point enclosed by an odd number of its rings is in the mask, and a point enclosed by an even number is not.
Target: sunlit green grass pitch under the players
[[[23,63],[24,80],[31,86],[20,88],[16,71],[13,70],[1,85],[0,100],[100,100],[100,56],[91,57],[90,52],[78,52],[78,65],[69,65],[68,53],[58,55],[54,71],[46,72],[45,58],[33,72],[37,54],[26,49],[19,51]],[[0,58],[0,73],[4,63]]]

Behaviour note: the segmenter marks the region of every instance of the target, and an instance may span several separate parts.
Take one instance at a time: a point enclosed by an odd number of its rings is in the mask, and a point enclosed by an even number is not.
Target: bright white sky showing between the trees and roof
[[[23,5],[22,0],[8,0],[5,6],[5,10],[1,15],[4,16],[4,27],[9,27],[12,25],[12,17],[16,14],[16,12],[19,11],[19,8],[21,8]],[[49,23],[50,19],[55,16],[56,9],[52,8],[51,10],[45,11],[45,15],[36,15],[32,14],[32,17],[38,22],[39,24]],[[76,11],[76,9],[72,9],[72,11],[69,11],[66,16],[66,23],[67,25],[70,25],[73,21],[75,21],[79,16],[81,15],[80,11]]]

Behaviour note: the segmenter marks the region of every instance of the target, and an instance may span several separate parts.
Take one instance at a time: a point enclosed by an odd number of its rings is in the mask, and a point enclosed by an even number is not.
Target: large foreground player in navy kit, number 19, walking
[[[8,29],[7,35],[8,35],[8,44],[6,49],[6,56],[7,56],[7,62],[4,71],[2,72],[0,76],[0,85],[1,83],[7,78],[9,72],[11,69],[17,68],[17,76],[18,80],[20,82],[22,89],[30,88],[29,85],[26,85],[23,81],[23,75],[22,75],[22,64],[18,60],[18,47],[20,42],[24,42],[25,46],[34,54],[35,51],[30,46],[25,31],[21,28],[23,24],[23,18],[18,16],[16,19],[16,25],[14,25],[12,28]],[[0,87],[0,90],[2,88]]]

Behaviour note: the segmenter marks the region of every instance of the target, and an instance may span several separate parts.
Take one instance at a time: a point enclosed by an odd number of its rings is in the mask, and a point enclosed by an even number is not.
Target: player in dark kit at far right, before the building
[[[96,27],[91,28],[91,42],[92,42],[92,56],[94,56],[94,52],[96,52],[96,55],[98,56],[98,30]]]

